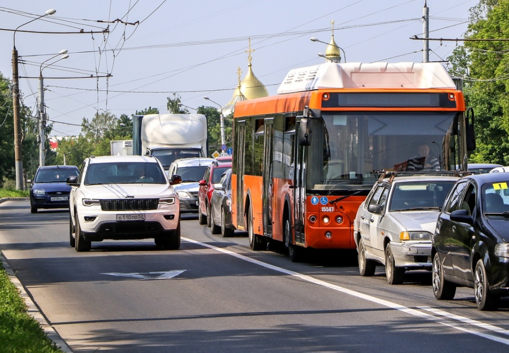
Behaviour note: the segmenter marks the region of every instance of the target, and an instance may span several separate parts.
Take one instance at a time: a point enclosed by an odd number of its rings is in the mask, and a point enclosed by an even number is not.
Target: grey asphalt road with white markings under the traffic
[[[348,252],[292,263],[182,217],[180,250],[153,241],[69,246],[66,210],[0,204],[0,250],[75,352],[507,352],[509,299],[477,310],[473,291],[437,301],[426,271],[405,284],[358,275]]]

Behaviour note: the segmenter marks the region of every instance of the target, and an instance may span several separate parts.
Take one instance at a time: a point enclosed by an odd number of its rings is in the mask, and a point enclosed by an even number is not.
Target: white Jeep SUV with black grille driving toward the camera
[[[154,239],[180,248],[179,199],[161,163],[152,156],[103,156],[83,161],[70,177],[70,245],[89,251],[104,239]]]

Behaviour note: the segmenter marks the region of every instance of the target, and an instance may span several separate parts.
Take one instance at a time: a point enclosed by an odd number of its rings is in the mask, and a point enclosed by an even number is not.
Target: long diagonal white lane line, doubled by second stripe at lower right
[[[355,291],[355,290],[351,290],[351,289],[348,289],[348,288],[345,288],[345,287],[342,287],[342,286],[331,284],[331,283],[328,283],[328,282],[316,279],[316,278],[308,276],[308,275],[303,275],[303,274],[298,273],[298,272],[294,272],[294,271],[287,270],[287,269],[284,269],[284,268],[281,268],[281,267],[277,267],[277,266],[271,265],[269,263],[262,262],[260,260],[256,260],[256,259],[250,258],[248,256],[237,254],[236,252],[233,252],[231,250],[218,248],[218,247],[215,247],[215,246],[210,245],[210,244],[198,242],[198,241],[195,241],[195,240],[192,240],[192,239],[188,239],[188,238],[184,238],[184,237],[182,237],[181,239],[186,241],[186,242],[189,242],[189,243],[199,244],[199,245],[204,246],[206,248],[213,249],[213,250],[218,251],[218,252],[222,252],[223,254],[231,255],[231,256],[237,257],[237,258],[239,258],[241,260],[244,260],[244,261],[247,261],[247,262],[250,262],[250,263],[253,263],[253,264],[257,264],[257,265],[265,267],[265,268],[267,268],[269,270],[277,271],[277,272],[280,272],[280,273],[284,273],[286,275],[290,275],[290,276],[293,276],[293,277],[300,278],[301,280],[306,281],[306,282],[315,283],[315,284],[321,285],[323,287],[327,287],[327,288],[330,288],[330,289],[336,290],[338,292],[342,292],[342,293],[351,295],[351,296],[359,298],[359,299],[363,299],[363,300],[366,300],[366,301],[369,301],[369,302],[372,302],[372,303],[376,303],[376,304],[379,304],[379,305],[382,305],[382,306],[385,306],[385,307],[388,307],[388,308],[391,308],[391,309],[403,311],[403,312],[405,312],[407,314],[410,314],[410,315],[414,315],[414,316],[418,316],[418,317],[422,317],[422,318],[427,318],[427,319],[436,321],[438,323],[441,323],[444,326],[447,326],[447,327],[450,327],[450,328],[453,328],[453,329],[456,329],[456,330],[459,330],[459,331],[462,331],[462,332],[470,333],[470,334],[473,334],[473,335],[476,335],[476,336],[487,338],[487,339],[492,340],[492,341],[496,341],[496,342],[499,342],[499,343],[503,343],[503,344],[509,345],[509,339],[506,339],[506,338],[503,338],[503,337],[494,336],[494,335],[490,335],[490,334],[486,334],[486,333],[482,333],[482,332],[478,332],[478,331],[475,331],[475,330],[469,330],[469,329],[466,329],[464,327],[455,325],[455,323],[453,323],[453,322],[444,320],[442,317],[434,316],[434,315],[428,314],[428,313],[420,311],[420,310],[408,308],[406,306],[403,306],[403,305],[400,305],[400,304],[397,304],[397,303],[392,303],[392,302],[389,302],[389,301],[386,301],[386,300],[383,300],[383,299],[380,299],[380,298],[376,298],[376,297],[373,297],[373,296],[370,296],[370,295],[367,295],[367,294],[364,294],[364,293],[361,293],[361,292],[358,292],[358,291]],[[434,314],[437,314],[437,315],[440,315],[440,316],[443,316],[443,317],[447,317],[449,319],[458,320],[460,322],[466,323],[467,325],[477,326],[477,327],[483,328],[485,330],[493,331],[493,332],[497,332],[497,333],[508,334],[507,330],[504,330],[504,329],[499,328],[497,326],[485,324],[485,323],[482,323],[480,321],[468,319],[468,318],[463,317],[463,316],[454,315],[454,314],[448,313],[446,311],[442,311],[442,310],[438,310],[438,309],[432,309],[432,308],[429,308],[429,307],[419,307],[419,308],[422,309],[422,310],[433,312]]]

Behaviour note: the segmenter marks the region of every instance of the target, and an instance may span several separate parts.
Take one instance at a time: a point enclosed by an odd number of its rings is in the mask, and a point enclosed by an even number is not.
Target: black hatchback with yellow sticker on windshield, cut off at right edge
[[[432,238],[433,292],[474,288],[480,310],[509,296],[509,173],[469,175],[447,195]]]

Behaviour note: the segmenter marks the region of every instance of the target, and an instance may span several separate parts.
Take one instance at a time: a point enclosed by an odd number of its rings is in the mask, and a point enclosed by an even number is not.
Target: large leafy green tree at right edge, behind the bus
[[[509,0],[480,0],[470,9],[467,41],[449,58],[451,73],[464,78],[467,106],[474,108],[477,149],[470,162],[509,164]]]

